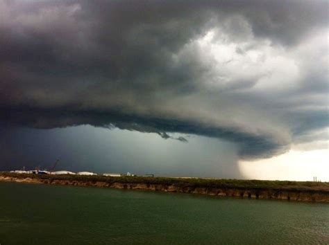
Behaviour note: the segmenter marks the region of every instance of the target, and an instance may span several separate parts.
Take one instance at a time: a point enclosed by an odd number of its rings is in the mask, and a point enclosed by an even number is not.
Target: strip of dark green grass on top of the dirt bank
[[[285,190],[321,190],[329,192],[328,182],[312,181],[261,181],[261,180],[239,180],[239,179],[201,179],[201,178],[168,178],[168,177],[144,177],[144,176],[83,176],[83,175],[55,175],[55,174],[16,174],[0,172],[0,176],[15,177],[18,179],[49,179],[63,181],[102,181],[106,183],[146,183],[176,185],[180,187],[199,188],[252,188],[252,189],[285,189]]]

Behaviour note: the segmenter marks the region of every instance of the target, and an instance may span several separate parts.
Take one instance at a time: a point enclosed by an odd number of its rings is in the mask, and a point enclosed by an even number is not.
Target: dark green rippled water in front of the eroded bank
[[[0,182],[0,244],[329,244],[329,205]]]

